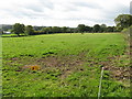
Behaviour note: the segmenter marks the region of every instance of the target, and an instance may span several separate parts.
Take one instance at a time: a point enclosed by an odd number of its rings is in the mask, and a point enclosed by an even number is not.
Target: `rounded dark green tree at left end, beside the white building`
[[[24,24],[15,23],[13,25],[12,32],[18,34],[18,36],[19,36],[21,33],[24,33],[24,28],[25,28]]]

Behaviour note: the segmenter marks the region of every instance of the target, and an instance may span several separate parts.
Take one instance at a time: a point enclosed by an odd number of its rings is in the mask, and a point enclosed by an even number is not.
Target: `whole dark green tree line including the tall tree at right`
[[[11,26],[12,33],[24,34],[24,35],[37,35],[37,34],[53,34],[53,33],[103,33],[103,32],[121,32],[123,29],[132,25],[131,14],[119,14],[116,19],[116,26],[107,26],[106,24],[95,24],[94,26],[88,26],[85,24],[78,24],[77,28],[68,26],[32,26],[24,25],[21,23],[15,23]]]

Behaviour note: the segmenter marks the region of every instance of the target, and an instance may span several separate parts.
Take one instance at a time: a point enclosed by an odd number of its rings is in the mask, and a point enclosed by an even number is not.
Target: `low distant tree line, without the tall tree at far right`
[[[36,28],[36,26],[35,26]],[[85,24],[78,24],[77,28],[68,28],[68,26],[46,26],[35,29],[32,25],[24,25],[21,23],[15,23],[12,26],[12,33],[25,34],[25,35],[37,35],[37,34],[54,34],[54,33],[103,33],[103,32],[120,32],[116,26],[107,26],[106,24],[95,24],[94,26],[88,26]]]

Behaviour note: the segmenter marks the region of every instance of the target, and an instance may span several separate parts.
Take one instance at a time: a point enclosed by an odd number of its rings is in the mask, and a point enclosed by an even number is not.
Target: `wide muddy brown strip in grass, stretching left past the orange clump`
[[[8,59],[7,64],[10,67],[18,67],[14,69],[15,72],[24,72],[22,68],[25,67],[25,69],[30,68],[32,69],[32,66],[40,66],[41,69],[37,69],[42,73],[48,73],[52,70],[58,70],[61,72],[59,78],[64,79],[68,75],[70,75],[74,72],[82,72],[85,59],[81,58],[81,56],[85,54],[79,55],[68,55],[68,56],[47,56],[47,57],[22,57],[22,58],[10,58]],[[31,72],[32,73],[32,72]]]

